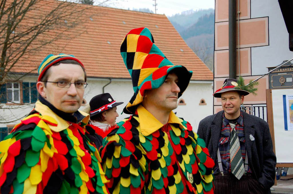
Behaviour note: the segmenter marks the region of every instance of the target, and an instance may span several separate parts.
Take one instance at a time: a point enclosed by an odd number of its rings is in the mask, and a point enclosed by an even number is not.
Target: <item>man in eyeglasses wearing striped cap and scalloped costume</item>
[[[84,65],[73,55],[48,55],[38,69],[33,111],[0,142],[0,193],[108,193],[101,159],[78,111]]]

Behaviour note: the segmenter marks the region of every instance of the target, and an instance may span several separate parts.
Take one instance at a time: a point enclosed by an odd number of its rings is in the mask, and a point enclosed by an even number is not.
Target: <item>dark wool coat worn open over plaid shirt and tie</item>
[[[245,147],[248,155],[249,167],[253,176],[263,185],[266,193],[275,180],[276,156],[273,152],[272,139],[268,123],[256,116],[243,113]],[[200,121],[197,135],[205,140],[210,156],[217,162],[217,150],[222,128],[223,111],[207,116]],[[255,138],[249,139],[250,134]]]

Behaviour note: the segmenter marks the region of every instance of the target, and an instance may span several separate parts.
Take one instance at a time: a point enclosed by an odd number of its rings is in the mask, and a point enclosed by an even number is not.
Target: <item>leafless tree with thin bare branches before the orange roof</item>
[[[90,0],[91,1],[91,0]],[[94,5],[105,5],[110,0],[96,0]],[[86,21],[93,15],[92,6],[77,4],[80,0],[2,0],[0,3],[0,88],[17,82],[38,69],[28,64],[35,53],[50,49],[63,50],[66,44],[86,32]],[[84,1],[86,3],[86,1]],[[53,48],[53,49],[52,49]],[[26,64],[25,67],[23,64]],[[20,87],[22,87],[20,85]],[[21,90],[19,90],[20,92]],[[4,94],[0,94],[0,98]],[[6,95],[6,94],[5,94]],[[27,116],[34,103],[13,105],[0,102],[0,123],[11,123]],[[20,111],[19,111],[19,110]],[[30,110],[28,110],[30,109]]]

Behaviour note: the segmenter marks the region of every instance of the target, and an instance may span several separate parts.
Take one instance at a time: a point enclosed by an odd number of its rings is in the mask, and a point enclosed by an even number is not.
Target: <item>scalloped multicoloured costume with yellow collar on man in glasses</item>
[[[62,112],[40,96],[0,142],[0,193],[108,193],[100,155],[85,130],[88,119],[80,111]]]

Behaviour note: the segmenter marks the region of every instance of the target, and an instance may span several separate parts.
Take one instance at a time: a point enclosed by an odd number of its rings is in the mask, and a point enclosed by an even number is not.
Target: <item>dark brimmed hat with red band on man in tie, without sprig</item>
[[[227,92],[227,91],[231,91],[231,90],[237,91],[241,95],[244,95],[244,96],[250,94],[249,92],[247,92],[245,90],[236,89],[235,87],[237,87],[237,86],[238,86],[238,83],[237,83],[236,79],[227,78],[227,79],[225,79],[223,86],[219,90],[214,92],[213,96],[215,98],[221,98],[221,94],[223,92]]]

